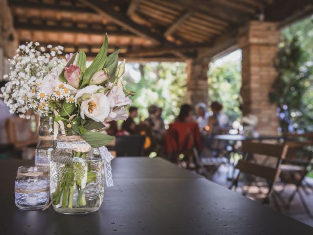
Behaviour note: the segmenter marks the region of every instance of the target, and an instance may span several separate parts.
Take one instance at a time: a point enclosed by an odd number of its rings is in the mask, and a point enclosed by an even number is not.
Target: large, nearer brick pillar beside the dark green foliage
[[[251,21],[242,28],[238,39],[242,49],[243,115],[253,114],[259,118],[257,131],[262,135],[277,135],[279,126],[276,106],[268,99],[277,76],[273,61],[279,41],[276,23],[259,21]]]

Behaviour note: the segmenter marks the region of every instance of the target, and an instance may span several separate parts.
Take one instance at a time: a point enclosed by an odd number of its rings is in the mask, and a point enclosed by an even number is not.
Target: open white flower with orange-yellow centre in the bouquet
[[[78,93],[77,93],[78,94]],[[91,94],[80,106],[80,116],[103,122],[110,114],[110,103],[104,93]]]

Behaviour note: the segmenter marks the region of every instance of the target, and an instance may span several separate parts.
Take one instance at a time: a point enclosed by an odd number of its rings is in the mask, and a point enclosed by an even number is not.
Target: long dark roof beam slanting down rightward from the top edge
[[[101,0],[79,0],[83,2],[86,6],[90,7],[92,10],[98,12],[100,15],[111,19],[114,23],[125,27],[134,34],[151,40],[154,43],[161,43],[164,38],[157,35],[151,31],[150,27],[139,25],[134,23],[130,18],[126,16],[125,13],[116,10],[116,7],[110,2]]]

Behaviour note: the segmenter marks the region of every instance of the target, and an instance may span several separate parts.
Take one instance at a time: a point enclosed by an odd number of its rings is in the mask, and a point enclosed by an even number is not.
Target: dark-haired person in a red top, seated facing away
[[[166,150],[168,153],[174,154],[180,165],[177,155],[184,151],[191,153],[194,147],[199,151],[202,150],[200,131],[197,122],[192,118],[192,108],[188,104],[180,107],[179,116],[175,122],[169,125],[166,133]],[[175,159],[172,159],[175,161]],[[193,155],[188,156],[189,166],[193,165]]]

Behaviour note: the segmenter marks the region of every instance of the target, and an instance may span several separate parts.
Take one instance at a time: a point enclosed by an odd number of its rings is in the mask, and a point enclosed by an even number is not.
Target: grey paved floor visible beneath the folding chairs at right
[[[227,181],[227,172],[228,172],[229,167],[228,166],[221,166],[220,169],[215,173],[214,177],[213,177],[213,181],[223,185],[225,187],[228,187],[230,185],[230,181]],[[229,174],[228,174],[229,175]],[[313,186],[313,179],[312,178],[307,178],[306,181]],[[280,191],[282,189],[282,185],[281,184],[276,184],[275,186],[275,190],[276,191]],[[284,192],[281,194],[281,197],[284,201],[287,201],[291,192],[295,189],[295,187],[293,185],[288,185]],[[261,191],[263,193],[260,193],[259,188],[258,187],[250,187],[248,190],[248,194],[246,195],[247,197],[249,197],[252,200],[255,201],[259,201],[261,202],[262,198],[264,198],[264,196],[266,195],[267,192],[267,188],[266,187],[261,187]],[[238,193],[242,193],[242,185],[237,189]],[[306,195],[305,193],[303,193],[305,201],[307,202],[309,209],[311,209],[312,213],[313,213],[313,190],[312,189],[308,189],[309,194]],[[274,210],[276,210],[275,205],[273,204],[273,201],[271,200],[271,203],[269,204],[269,207],[273,208]],[[284,206],[282,205],[282,203],[280,203],[280,208],[281,211],[285,214],[288,214],[289,216],[302,221],[303,223],[306,223],[310,226],[313,227],[313,217],[310,217],[302,203],[301,200],[299,198],[299,195],[296,194],[292,204],[291,204],[291,208],[289,211],[287,211],[286,209],[284,209]]]

